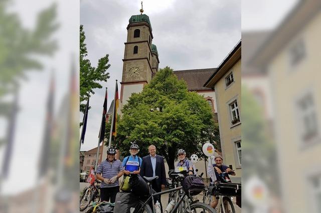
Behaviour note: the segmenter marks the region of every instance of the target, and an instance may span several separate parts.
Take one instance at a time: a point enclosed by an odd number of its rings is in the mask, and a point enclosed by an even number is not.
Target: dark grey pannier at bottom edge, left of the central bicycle
[[[118,192],[116,194],[115,213],[130,213],[130,208],[137,204],[137,196],[130,192]]]

